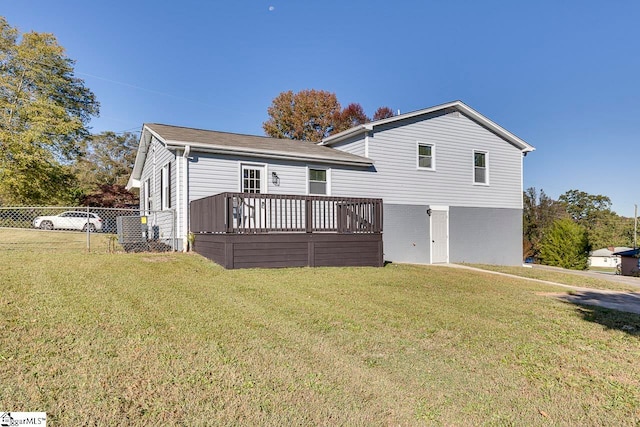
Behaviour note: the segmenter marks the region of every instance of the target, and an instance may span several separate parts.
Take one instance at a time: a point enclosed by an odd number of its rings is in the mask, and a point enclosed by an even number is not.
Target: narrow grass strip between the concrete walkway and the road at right
[[[607,289],[613,291],[635,291],[639,289],[637,286],[627,285],[624,283],[616,283],[606,278],[598,279],[594,277],[586,277],[572,273],[563,273],[562,271],[544,270],[531,267],[512,267],[503,265],[486,265],[486,264],[469,264],[471,267],[481,268],[483,270],[497,271],[499,273],[513,274],[514,276],[526,277],[529,279],[540,279],[549,282],[562,283],[565,285],[579,286],[583,288]],[[605,276],[603,274],[603,276]],[[606,276],[605,276],[606,277]],[[638,280],[640,285],[640,280]]]

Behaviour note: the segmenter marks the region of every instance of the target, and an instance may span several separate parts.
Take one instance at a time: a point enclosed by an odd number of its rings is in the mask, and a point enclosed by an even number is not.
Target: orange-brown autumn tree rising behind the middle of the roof
[[[319,142],[333,129],[340,103],[335,94],[324,90],[287,91],[273,100],[267,112],[269,120],[262,124],[267,135]]]

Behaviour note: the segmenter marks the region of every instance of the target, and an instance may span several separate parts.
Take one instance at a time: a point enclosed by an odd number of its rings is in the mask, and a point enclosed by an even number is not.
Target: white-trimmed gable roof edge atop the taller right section
[[[419,116],[428,116],[435,112],[441,110],[455,110],[458,111],[465,116],[469,117],[471,120],[475,121],[479,125],[487,128],[489,131],[498,135],[500,138],[514,145],[518,149],[520,149],[524,153],[528,153],[530,151],[534,151],[535,148],[532,145],[529,145],[524,140],[520,139],[513,133],[509,132],[502,126],[497,123],[489,120],[487,117],[478,113],[473,108],[469,107],[462,101],[453,101],[446,104],[436,105],[433,107],[425,108],[418,111],[412,111],[410,113],[400,114],[398,116],[389,117],[387,119],[376,120],[375,122],[365,123],[363,125],[354,126],[351,129],[347,129],[343,132],[337,133],[335,135],[329,136],[322,140],[322,145],[331,146],[335,143],[344,141],[347,138],[359,135],[361,133],[365,133],[367,131],[375,130],[377,126],[387,125],[387,124],[397,124],[401,126],[401,122],[403,120],[419,117]]]

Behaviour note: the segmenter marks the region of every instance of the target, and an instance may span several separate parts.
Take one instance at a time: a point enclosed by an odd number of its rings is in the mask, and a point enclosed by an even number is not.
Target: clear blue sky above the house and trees
[[[144,122],[263,134],[271,100],[323,89],[409,112],[460,99],[537,151],[524,186],[609,196],[632,216],[638,1],[0,0],[51,32],[101,103],[94,132]]]

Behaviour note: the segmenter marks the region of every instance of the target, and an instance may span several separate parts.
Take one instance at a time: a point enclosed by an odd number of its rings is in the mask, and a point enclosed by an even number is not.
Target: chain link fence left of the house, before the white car
[[[0,207],[0,250],[169,252],[175,211],[100,207]]]

